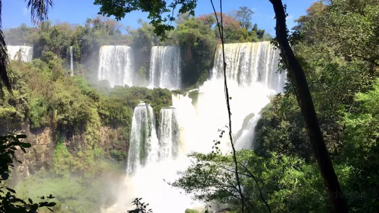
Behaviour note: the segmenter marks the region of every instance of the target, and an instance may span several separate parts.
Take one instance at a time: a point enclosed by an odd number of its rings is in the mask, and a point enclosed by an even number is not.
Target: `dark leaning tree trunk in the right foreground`
[[[321,176],[323,177],[329,200],[332,203],[334,212],[348,212],[336,172],[333,168],[332,160],[329,157],[329,153],[327,153],[323,134],[321,133],[318,124],[307,79],[305,78],[303,68],[300,66],[299,61],[294,56],[294,52],[288,43],[288,32],[285,23],[286,14],[283,8],[283,3],[281,0],[270,0],[270,2],[274,6],[274,12],[277,19],[275,30],[279,48],[281,49],[281,58],[283,58],[285,67],[290,74],[292,85],[296,92],[296,98],[305,120],[307,133],[310,137],[312,149],[314,150],[314,155]]]

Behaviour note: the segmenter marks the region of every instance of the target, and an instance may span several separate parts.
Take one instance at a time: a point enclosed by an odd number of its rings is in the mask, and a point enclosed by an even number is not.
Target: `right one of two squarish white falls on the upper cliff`
[[[180,89],[180,46],[155,46],[150,56],[150,87]]]

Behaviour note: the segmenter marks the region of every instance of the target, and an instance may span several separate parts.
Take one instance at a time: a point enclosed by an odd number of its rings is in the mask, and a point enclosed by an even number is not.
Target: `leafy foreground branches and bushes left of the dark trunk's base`
[[[195,199],[240,207],[234,162],[230,155],[189,155],[195,161],[171,183],[192,192]],[[259,157],[252,150],[237,152],[241,184],[248,209],[254,212],[315,212],[325,211],[325,192],[316,166],[308,166],[294,157],[272,153]],[[213,190],[215,189],[215,190]]]

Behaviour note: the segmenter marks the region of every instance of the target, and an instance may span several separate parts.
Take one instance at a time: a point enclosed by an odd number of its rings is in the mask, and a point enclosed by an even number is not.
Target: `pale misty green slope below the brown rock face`
[[[17,186],[17,195],[36,199],[41,193],[56,194],[52,199],[56,206],[54,212],[98,212],[102,206],[111,205],[116,199],[113,191],[120,183],[120,168],[114,163],[97,162],[101,168],[96,176],[85,173],[83,177],[57,176],[52,172],[38,172]],[[116,171],[120,170],[120,171]],[[105,173],[106,172],[106,173]],[[112,177],[113,176],[113,177]],[[113,182],[113,183],[112,183]]]

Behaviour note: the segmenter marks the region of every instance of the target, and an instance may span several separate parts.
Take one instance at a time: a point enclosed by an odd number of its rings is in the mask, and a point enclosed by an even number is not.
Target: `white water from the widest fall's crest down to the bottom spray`
[[[268,42],[227,44],[225,47],[228,90],[232,98],[230,100],[232,133],[239,136],[235,138],[237,148],[252,148],[254,146],[252,144],[253,129],[259,120],[259,112],[270,102],[270,95],[282,90],[285,74],[275,73],[279,54]],[[180,213],[186,208],[198,210],[204,208],[202,203],[191,201],[189,195],[171,188],[166,181],[177,179],[177,170],[184,170],[191,164],[185,156],[186,153],[191,153],[191,151],[208,153],[212,150],[214,139],[221,141],[220,147],[224,153],[230,150],[225,128],[228,124],[228,113],[222,74],[221,49],[217,47],[214,69],[210,79],[199,87],[199,98],[195,106],[188,96],[173,95],[173,107],[177,115],[181,144],[177,158],[173,159],[170,155],[165,155],[166,159],[151,162],[135,170],[133,175],[126,178],[125,188],[120,190],[118,202],[107,212],[130,210],[133,208],[130,202],[136,197],[142,197],[142,201],[150,203],[149,207],[156,213]],[[165,125],[169,123],[169,120],[173,122],[173,111],[174,109],[161,111],[161,116],[164,117],[160,119],[164,120]],[[248,117],[243,126],[243,120],[251,113],[254,113],[254,116]],[[226,131],[221,139],[217,132],[220,128]],[[160,133],[163,132],[166,135],[160,136],[160,146],[163,146],[165,150],[170,150],[166,147],[172,148],[175,141],[172,137],[168,139],[172,132],[160,131]]]

